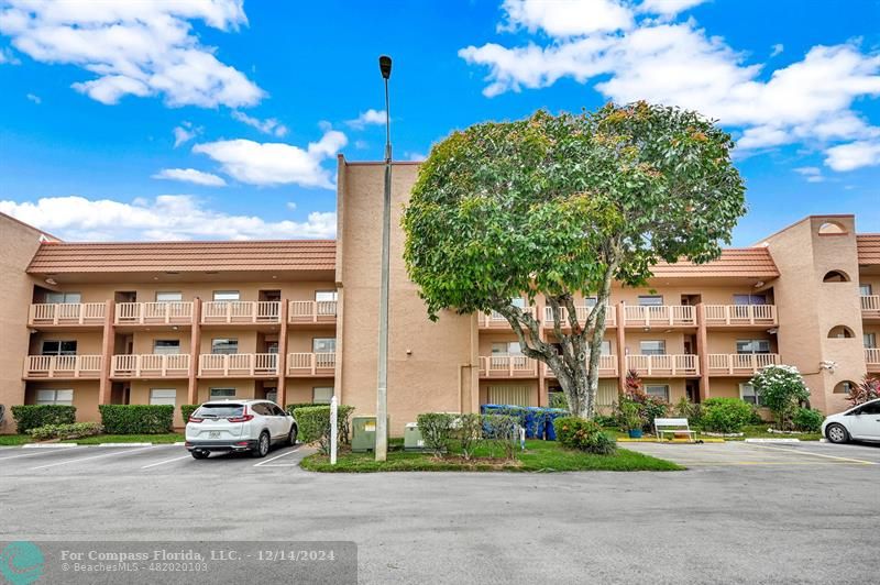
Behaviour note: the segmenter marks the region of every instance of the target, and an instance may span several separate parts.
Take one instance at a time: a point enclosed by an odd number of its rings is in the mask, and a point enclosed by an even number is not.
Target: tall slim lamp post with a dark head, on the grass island
[[[388,78],[392,58],[382,55],[378,68],[385,80],[385,199],[382,207],[382,284],[378,300],[378,380],[376,384],[376,461],[388,456],[388,284],[392,231],[392,122]]]

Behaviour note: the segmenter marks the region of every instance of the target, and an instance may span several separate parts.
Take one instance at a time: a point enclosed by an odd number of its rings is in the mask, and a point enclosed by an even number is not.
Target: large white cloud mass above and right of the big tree
[[[554,2],[546,9],[553,18],[539,19],[528,16],[528,10],[543,14],[544,9],[531,3],[505,2],[506,19],[531,32],[540,29],[549,40],[536,35],[524,45],[488,43],[459,52],[468,63],[488,69],[483,91],[487,97],[548,87],[571,77],[582,84],[593,81],[597,91],[617,102],[647,99],[697,110],[739,130],[741,148],[796,142],[824,148],[880,134],[880,128],[854,110],[860,98],[880,95],[880,55],[864,53],[857,44],[814,46],[803,59],[768,75],[763,64],[747,63],[693,19],[674,22],[637,15],[659,12],[659,3],[620,4],[635,19],[628,29],[580,31],[573,24],[565,29],[554,23],[582,22],[581,4]],[[668,7],[664,14],[671,14],[695,3],[662,5]]]

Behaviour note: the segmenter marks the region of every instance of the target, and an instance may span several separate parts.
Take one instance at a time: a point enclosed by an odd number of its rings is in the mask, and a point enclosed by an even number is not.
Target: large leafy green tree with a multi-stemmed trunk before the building
[[[432,319],[504,316],[590,418],[612,284],[718,256],[745,213],[733,147],[698,113],[646,102],[454,132],[421,165],[404,214],[409,276]],[[542,316],[512,302],[522,294],[546,296],[561,350],[541,339]],[[585,319],[578,294],[597,299]]]

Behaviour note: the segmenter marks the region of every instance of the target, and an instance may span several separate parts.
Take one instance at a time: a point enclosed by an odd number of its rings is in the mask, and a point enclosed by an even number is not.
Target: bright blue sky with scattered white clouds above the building
[[[809,213],[880,232],[878,0],[0,0],[0,211],[80,240],[332,238],[336,154],[382,157],[382,53],[396,158],[648,99],[738,140],[735,244]]]

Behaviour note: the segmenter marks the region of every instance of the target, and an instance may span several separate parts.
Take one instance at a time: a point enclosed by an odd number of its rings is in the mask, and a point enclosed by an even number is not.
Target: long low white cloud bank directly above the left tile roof
[[[161,195],[131,203],[85,197],[3,201],[0,211],[67,240],[266,240],[333,238],[336,213],[312,212],[302,222],[266,221],[205,207],[189,195]]]

